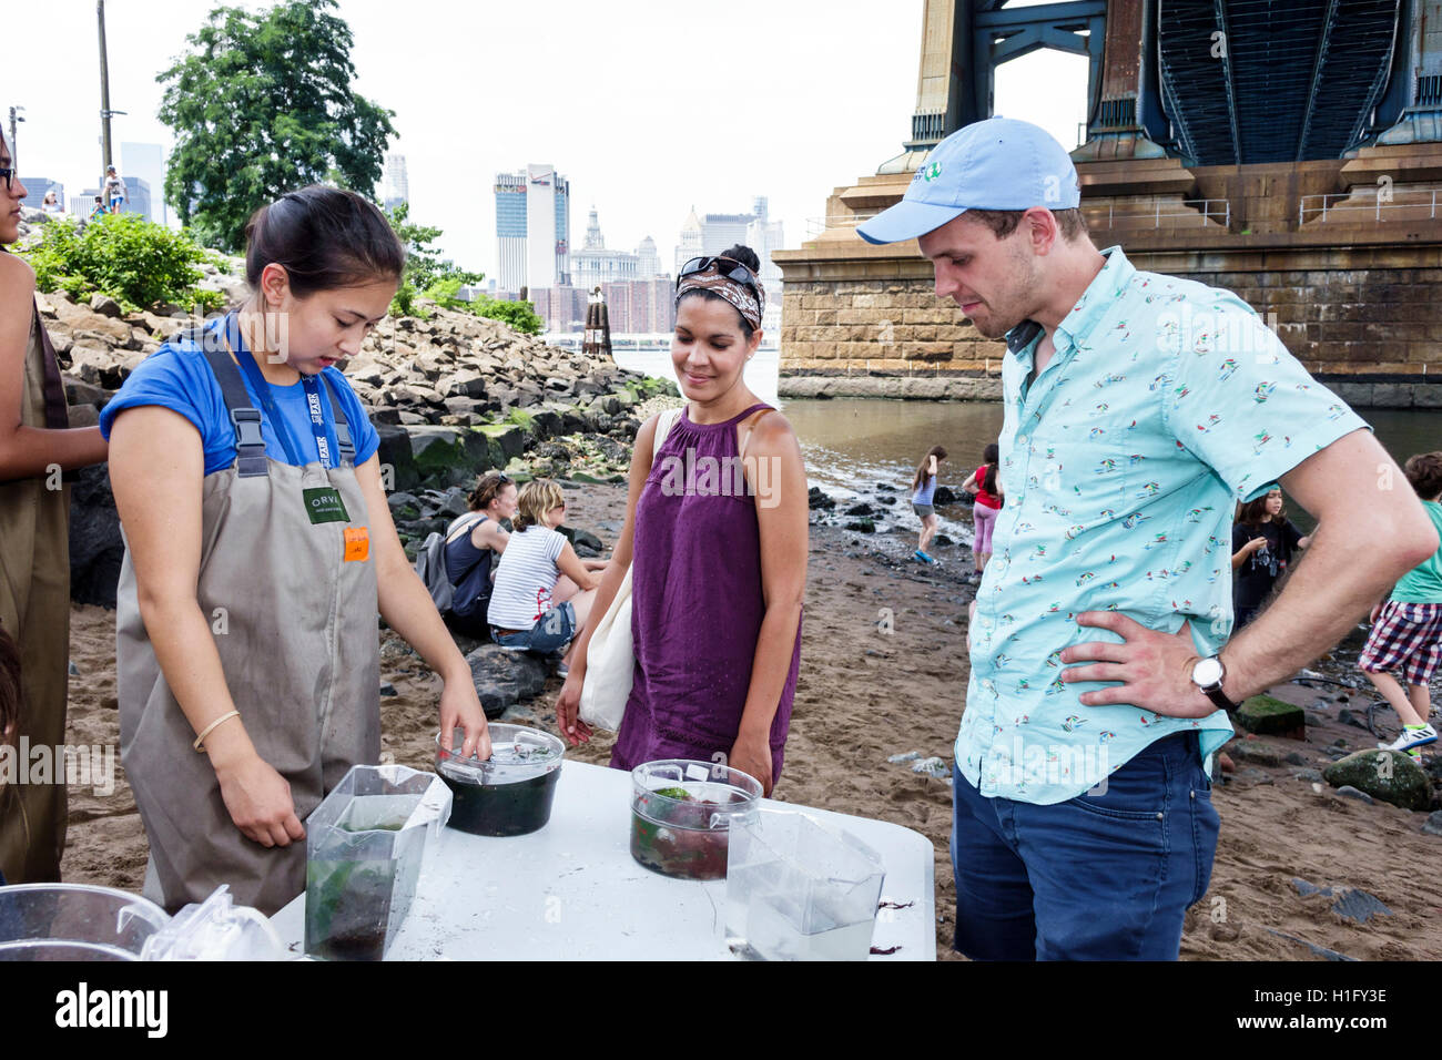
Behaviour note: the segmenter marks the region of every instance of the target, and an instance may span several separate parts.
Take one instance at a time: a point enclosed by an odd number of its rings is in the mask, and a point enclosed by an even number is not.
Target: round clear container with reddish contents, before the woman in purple
[[[725,877],[734,821],[756,815],[760,782],[715,761],[660,759],[632,770],[632,857],[679,880]]]

